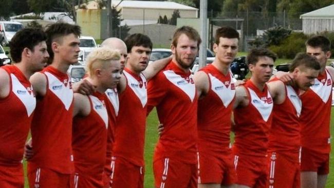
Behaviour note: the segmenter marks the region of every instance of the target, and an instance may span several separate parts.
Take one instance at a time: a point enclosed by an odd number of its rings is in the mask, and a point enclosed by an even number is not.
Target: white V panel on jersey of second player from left
[[[67,83],[67,85],[65,86],[65,84],[61,82],[57,77],[53,76],[53,74],[49,72],[44,73],[48,78],[50,91],[52,91],[54,95],[57,96],[60,101],[62,101],[65,109],[68,110],[73,101],[73,91],[70,88],[70,84]],[[69,80],[67,82],[69,82]]]

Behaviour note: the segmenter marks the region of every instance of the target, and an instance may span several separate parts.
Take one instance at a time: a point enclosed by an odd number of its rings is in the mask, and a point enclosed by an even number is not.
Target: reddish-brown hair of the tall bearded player
[[[199,48],[200,43],[202,40],[200,39],[200,36],[196,29],[190,27],[190,26],[182,26],[180,28],[177,28],[174,32],[173,39],[172,39],[172,45],[177,46],[177,42],[179,40],[179,37],[181,34],[185,34],[189,37],[189,39],[193,41],[197,41],[197,48]]]

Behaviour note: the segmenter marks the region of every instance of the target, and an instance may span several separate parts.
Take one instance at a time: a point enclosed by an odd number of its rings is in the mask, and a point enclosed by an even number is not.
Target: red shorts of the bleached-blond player
[[[103,188],[102,177],[80,175],[79,173],[76,173],[72,178],[74,179],[74,188]]]

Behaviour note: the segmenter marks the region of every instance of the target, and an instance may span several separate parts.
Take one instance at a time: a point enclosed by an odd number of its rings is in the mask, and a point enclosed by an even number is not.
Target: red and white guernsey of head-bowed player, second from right
[[[272,81],[278,80],[277,78]],[[286,97],[282,104],[274,104],[269,135],[268,152],[293,154],[291,159],[299,162],[301,146],[300,115],[302,101],[292,86],[285,85]]]

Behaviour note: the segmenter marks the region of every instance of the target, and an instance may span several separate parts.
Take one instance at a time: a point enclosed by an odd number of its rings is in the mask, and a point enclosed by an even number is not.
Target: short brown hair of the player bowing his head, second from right
[[[307,53],[298,53],[292,60],[290,65],[290,72],[293,72],[295,68],[304,66],[305,68],[320,70],[320,64],[318,60]]]

